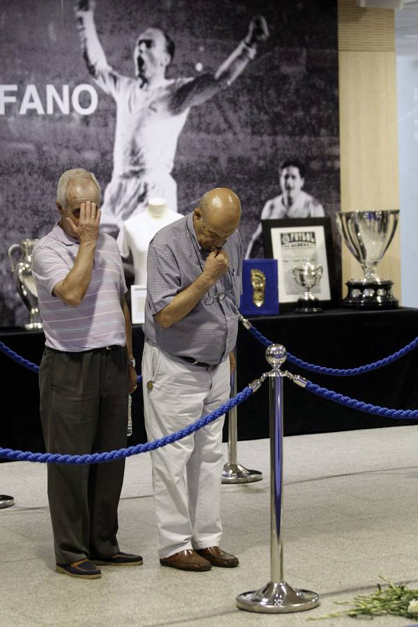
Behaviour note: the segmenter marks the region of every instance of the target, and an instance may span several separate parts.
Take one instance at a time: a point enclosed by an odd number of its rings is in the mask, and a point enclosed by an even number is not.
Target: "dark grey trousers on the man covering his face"
[[[39,370],[47,451],[84,454],[126,446],[124,347],[60,353],[45,348]],[[48,499],[58,564],[114,555],[125,460],[48,464]]]

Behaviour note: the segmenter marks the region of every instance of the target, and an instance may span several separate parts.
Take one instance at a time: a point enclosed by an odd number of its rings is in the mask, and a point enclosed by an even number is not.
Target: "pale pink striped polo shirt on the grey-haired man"
[[[54,287],[74,265],[79,241],[59,224],[33,248],[32,273],[38,290],[40,314],[49,348],[68,353],[125,346],[125,318],[121,297],[126,292],[121,255],[116,240],[99,233],[90,285],[78,307],[56,297]]]

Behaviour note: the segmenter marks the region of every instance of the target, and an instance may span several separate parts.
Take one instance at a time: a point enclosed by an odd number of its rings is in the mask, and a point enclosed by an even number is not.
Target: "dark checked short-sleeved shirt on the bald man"
[[[235,347],[242,292],[242,243],[234,231],[222,247],[228,271],[178,323],[164,329],[154,316],[199,277],[209,252],[196,239],[192,214],[165,226],[150,242],[144,334],[169,355],[219,364]]]

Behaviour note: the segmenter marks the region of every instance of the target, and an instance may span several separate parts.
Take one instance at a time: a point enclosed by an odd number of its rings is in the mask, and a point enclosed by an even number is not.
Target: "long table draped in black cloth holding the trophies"
[[[334,309],[321,314],[286,313],[249,318],[268,339],[306,362],[332,368],[353,368],[382,359],[410,343],[418,335],[418,309],[394,311],[347,311]],[[36,364],[44,344],[42,332],[0,327],[0,341]],[[141,367],[144,335],[133,327],[134,355]],[[261,373],[270,370],[265,347],[242,325],[238,334],[238,390]],[[290,362],[283,366],[310,381],[359,401],[396,409],[418,408],[417,349],[382,369],[353,377],[319,375],[298,369]],[[3,411],[0,446],[44,451],[39,418],[38,376],[0,354],[3,373]],[[128,444],[146,441],[139,387],[132,396],[133,434]],[[358,428],[418,424],[418,421],[384,419],[336,405],[284,382],[285,435],[346,431]],[[268,382],[238,407],[238,438],[268,438]],[[224,431],[226,438],[226,427]]]

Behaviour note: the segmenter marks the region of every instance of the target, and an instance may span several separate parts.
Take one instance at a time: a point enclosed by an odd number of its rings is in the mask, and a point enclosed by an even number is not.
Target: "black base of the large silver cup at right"
[[[389,279],[351,279],[346,282],[348,295],[342,305],[351,309],[396,309],[399,303],[392,294],[392,285]]]

